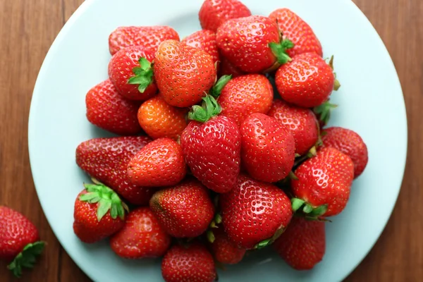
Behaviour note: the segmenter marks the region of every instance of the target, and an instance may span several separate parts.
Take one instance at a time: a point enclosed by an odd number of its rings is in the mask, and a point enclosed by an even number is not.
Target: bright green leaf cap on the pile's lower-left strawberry
[[[87,193],[80,195],[79,200],[82,202],[89,202],[90,204],[98,203],[97,220],[101,221],[103,216],[110,212],[112,219],[118,216],[120,219],[125,218],[125,210],[128,211],[128,206],[121,200],[121,198],[103,183],[92,178],[94,184],[84,183]]]

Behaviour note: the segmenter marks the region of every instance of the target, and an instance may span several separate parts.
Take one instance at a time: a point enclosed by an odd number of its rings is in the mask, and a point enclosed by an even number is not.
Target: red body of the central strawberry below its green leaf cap
[[[191,121],[180,137],[192,175],[214,192],[230,191],[240,172],[240,131],[233,119],[216,116]]]

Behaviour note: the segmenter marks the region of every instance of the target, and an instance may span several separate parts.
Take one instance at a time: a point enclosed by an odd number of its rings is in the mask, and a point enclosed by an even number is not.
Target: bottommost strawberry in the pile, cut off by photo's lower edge
[[[161,261],[161,275],[166,282],[212,282],[217,277],[212,255],[197,242],[171,247]]]

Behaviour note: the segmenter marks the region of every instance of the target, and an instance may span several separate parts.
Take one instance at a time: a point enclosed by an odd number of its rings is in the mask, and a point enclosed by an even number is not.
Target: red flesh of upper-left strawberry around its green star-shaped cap
[[[140,58],[145,58],[151,63],[154,53],[140,46],[127,47],[114,54],[109,62],[109,78],[116,90],[126,99],[145,101],[157,93],[154,80],[142,93],[138,90],[138,85],[128,83],[129,78],[135,75],[133,68],[140,67]]]

